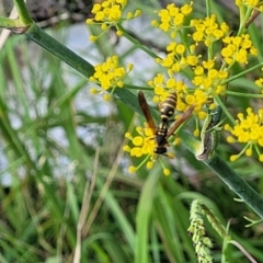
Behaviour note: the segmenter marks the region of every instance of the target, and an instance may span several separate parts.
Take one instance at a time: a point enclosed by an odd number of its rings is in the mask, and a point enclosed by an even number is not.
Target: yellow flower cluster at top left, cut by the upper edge
[[[140,10],[127,12],[126,16],[123,14],[123,10],[127,4],[127,0],[104,0],[101,3],[95,3],[91,13],[94,14],[93,19],[88,19],[87,24],[101,24],[103,32],[107,31],[111,26],[116,26],[124,20],[132,20],[138,18],[141,14]],[[123,33],[117,31],[117,35],[121,36]],[[90,41],[94,42],[100,36],[90,36]]]

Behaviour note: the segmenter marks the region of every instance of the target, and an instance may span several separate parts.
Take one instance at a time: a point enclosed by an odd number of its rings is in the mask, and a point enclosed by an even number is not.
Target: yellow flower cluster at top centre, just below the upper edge
[[[175,7],[174,3],[167,5],[167,9],[162,9],[158,12],[160,22],[152,21],[153,26],[158,26],[160,30],[168,32],[173,30],[172,37],[175,37],[175,31],[180,30],[185,21],[185,18],[192,13],[193,2],[184,4],[182,8]]]

